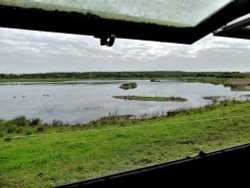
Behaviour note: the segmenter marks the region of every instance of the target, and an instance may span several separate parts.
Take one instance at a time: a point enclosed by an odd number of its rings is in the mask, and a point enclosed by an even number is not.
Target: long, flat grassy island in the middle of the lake
[[[146,97],[146,96],[113,96],[115,99],[136,100],[136,101],[155,101],[155,102],[185,102],[187,99],[181,97]]]

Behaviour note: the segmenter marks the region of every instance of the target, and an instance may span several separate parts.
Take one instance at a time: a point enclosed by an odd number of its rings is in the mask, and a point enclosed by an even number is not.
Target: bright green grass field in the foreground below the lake
[[[117,120],[111,127],[119,129],[2,138],[0,187],[51,187],[247,143],[249,111],[250,102],[222,102],[170,117]]]

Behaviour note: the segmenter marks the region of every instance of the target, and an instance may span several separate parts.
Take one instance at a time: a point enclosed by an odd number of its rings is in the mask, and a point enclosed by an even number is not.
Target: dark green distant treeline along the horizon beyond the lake
[[[214,77],[214,78],[250,78],[250,73],[240,72],[60,72],[36,74],[0,74],[0,79],[126,79],[126,78],[174,78],[174,77]]]

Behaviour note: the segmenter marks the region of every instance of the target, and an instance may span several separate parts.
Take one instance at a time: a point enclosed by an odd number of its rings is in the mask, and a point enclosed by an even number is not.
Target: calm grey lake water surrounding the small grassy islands
[[[233,92],[223,85],[185,83],[180,81],[150,82],[135,80],[138,87],[122,90],[126,81],[78,81],[64,83],[0,84],[0,119],[17,116],[54,119],[78,123],[96,120],[109,114],[152,114],[179,108],[193,108],[211,103],[204,96],[225,96],[243,99],[250,92]],[[131,82],[131,81],[129,81]],[[187,102],[145,102],[114,99],[115,95],[176,96]]]

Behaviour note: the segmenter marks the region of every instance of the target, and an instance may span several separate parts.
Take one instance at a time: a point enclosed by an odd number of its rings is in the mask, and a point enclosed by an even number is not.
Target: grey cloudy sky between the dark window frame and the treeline
[[[193,45],[0,28],[0,73],[89,71],[250,72],[250,41],[209,35]]]

